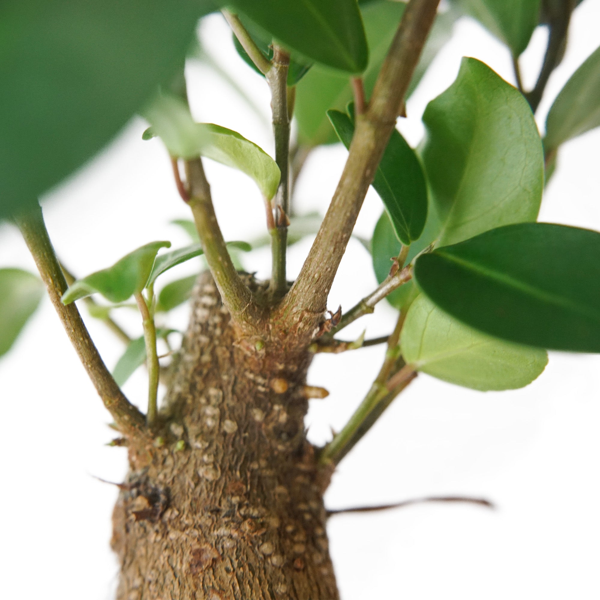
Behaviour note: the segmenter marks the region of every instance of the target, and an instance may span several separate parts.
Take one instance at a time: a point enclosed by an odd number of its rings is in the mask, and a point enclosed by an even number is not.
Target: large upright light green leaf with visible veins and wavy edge
[[[457,79],[425,110],[422,158],[442,229],[454,244],[493,227],[535,221],[544,189],[538,128],[523,95],[463,58]]]

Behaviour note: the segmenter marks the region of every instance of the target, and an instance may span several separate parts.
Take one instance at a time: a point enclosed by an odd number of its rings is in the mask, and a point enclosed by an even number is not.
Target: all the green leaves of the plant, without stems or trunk
[[[170,91],[197,20],[224,6],[239,12],[265,59],[273,43],[289,51],[298,145],[310,151],[339,138],[348,148],[362,118],[349,104],[352,78],[361,77],[368,100],[403,2],[7,0],[0,8],[0,218],[25,211],[136,112],[151,126],[145,139],[160,137],[173,159],[207,157],[238,169],[270,201],[280,186],[277,162],[235,131],[194,122]],[[436,18],[408,94],[461,14],[478,19],[516,60],[543,11],[540,0],[453,0]],[[68,33],[58,35],[65,23]],[[251,64],[237,40],[236,47]],[[385,208],[368,244],[377,280],[386,281],[398,256],[413,272],[388,296],[406,314],[404,360],[457,385],[499,390],[535,379],[546,349],[600,352],[600,233],[536,223],[557,149],[600,125],[600,49],[557,96],[543,142],[526,95],[474,58],[463,59],[423,122],[416,150],[394,130],[372,184]],[[319,223],[291,215],[288,243],[316,233]],[[96,305],[103,319],[142,292],[152,318],[179,306],[193,276],[154,293],[161,274],[203,253],[193,224],[179,224],[192,245],[159,254],[169,242],[146,244],[75,281],[63,301],[99,293],[112,303]],[[263,244],[231,242],[230,252]],[[34,275],[0,270],[0,355],[34,313],[41,289]],[[172,332],[157,335],[166,340]],[[115,368],[119,385],[145,359],[144,338],[136,338]]]

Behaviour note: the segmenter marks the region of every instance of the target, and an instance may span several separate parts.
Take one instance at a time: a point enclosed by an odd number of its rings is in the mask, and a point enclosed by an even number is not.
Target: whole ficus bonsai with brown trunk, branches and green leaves
[[[113,444],[128,448],[113,514],[118,598],[338,598],[323,493],[419,372],[482,391],[515,389],[544,370],[547,349],[600,352],[600,234],[536,222],[560,145],[600,125],[600,49],[554,101],[542,140],[533,114],[577,2],[455,0],[440,13],[438,4],[10,0],[0,8],[0,218],[20,228],[41,276],[0,269],[0,354],[45,287],[112,415]],[[217,10],[271,90],[275,158],[191,115],[185,56],[197,20]],[[508,46],[518,88],[464,58],[425,110],[415,150],[395,123],[464,13]],[[549,29],[547,52],[526,92],[518,57],[539,24]],[[170,242],[152,241],[76,278],[56,257],[35,199],[136,112],[149,124],[144,138],[166,147],[193,219],[179,221],[191,244],[167,250]],[[325,218],[297,215],[292,191],[307,155],[338,139],[348,157]],[[266,241],[224,241],[203,158],[257,185]],[[367,244],[380,285],[335,310],[328,293],[370,185],[385,208]],[[287,247],[312,233],[288,281]],[[259,281],[238,268],[237,253],[265,244],[272,275]],[[161,286],[164,272],[200,254],[205,272]],[[397,308],[389,335],[337,337],[383,299]],[[112,373],[77,300],[125,344]],[[173,347],[169,312],[184,302],[190,323]],[[139,311],[141,337],[113,318],[122,307]],[[387,352],[367,396],[331,442],[311,445],[308,400],[326,395],[306,382],[314,354],[377,343]],[[120,387],[143,364],[146,414]],[[158,406],[160,381],[167,392]]]

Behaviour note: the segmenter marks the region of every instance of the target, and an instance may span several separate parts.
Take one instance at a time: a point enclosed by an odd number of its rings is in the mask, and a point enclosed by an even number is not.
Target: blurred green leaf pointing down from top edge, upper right
[[[491,34],[519,56],[538,25],[540,0],[456,0]]]

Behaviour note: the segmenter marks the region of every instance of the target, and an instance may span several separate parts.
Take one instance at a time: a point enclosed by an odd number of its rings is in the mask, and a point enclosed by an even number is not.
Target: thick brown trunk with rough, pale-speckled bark
[[[290,340],[239,340],[200,277],[161,437],[130,448],[115,506],[119,600],[338,598],[304,431],[309,363]]]

